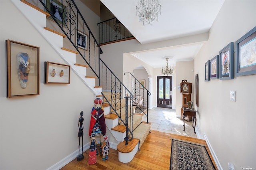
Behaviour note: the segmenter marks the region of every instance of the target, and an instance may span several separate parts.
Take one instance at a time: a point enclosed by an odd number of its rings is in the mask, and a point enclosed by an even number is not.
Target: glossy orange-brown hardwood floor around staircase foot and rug
[[[170,151],[172,142],[170,138],[189,140],[191,142],[206,145],[205,140],[202,139],[151,130],[151,133],[148,134],[146,140],[142,144],[140,151],[136,153],[131,162],[120,162],[118,160],[118,151],[110,148],[108,160],[102,161],[102,156],[98,155],[96,164],[89,165],[88,149],[84,152],[83,160],[77,161],[74,159],[60,170],[168,170],[170,168]],[[208,147],[206,147],[206,149],[208,150],[210,158],[217,169]]]

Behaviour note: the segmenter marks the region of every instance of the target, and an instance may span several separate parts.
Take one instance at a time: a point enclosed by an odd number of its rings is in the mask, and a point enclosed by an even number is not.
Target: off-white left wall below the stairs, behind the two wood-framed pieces
[[[0,1],[0,9],[0,169],[45,170],[78,149],[81,111],[84,144],[89,142],[95,96],[72,70],[70,84],[44,84],[44,61],[64,60],[11,1]],[[40,95],[6,98],[7,39],[40,47]]]

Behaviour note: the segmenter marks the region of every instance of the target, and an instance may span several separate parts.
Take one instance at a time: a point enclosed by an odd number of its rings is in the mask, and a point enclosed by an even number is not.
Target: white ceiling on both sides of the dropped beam
[[[136,16],[138,0],[101,1],[141,44],[206,33],[224,3],[224,0],[160,0],[162,8],[158,22],[153,21],[152,26],[146,23],[142,26]],[[176,61],[193,60],[203,43],[152,49],[132,55],[152,67],[166,65],[162,57],[173,56],[168,63],[176,65]]]

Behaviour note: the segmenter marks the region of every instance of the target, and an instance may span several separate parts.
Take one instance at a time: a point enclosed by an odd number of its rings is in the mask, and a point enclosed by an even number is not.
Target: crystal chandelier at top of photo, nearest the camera
[[[139,21],[144,24],[152,25],[152,21],[158,21],[158,13],[161,15],[161,5],[159,0],[139,0],[136,6],[137,15],[140,17]]]

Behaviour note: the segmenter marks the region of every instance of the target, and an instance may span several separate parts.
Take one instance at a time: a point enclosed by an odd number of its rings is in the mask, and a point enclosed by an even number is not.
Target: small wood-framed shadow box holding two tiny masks
[[[45,61],[46,84],[70,84],[70,65]]]

